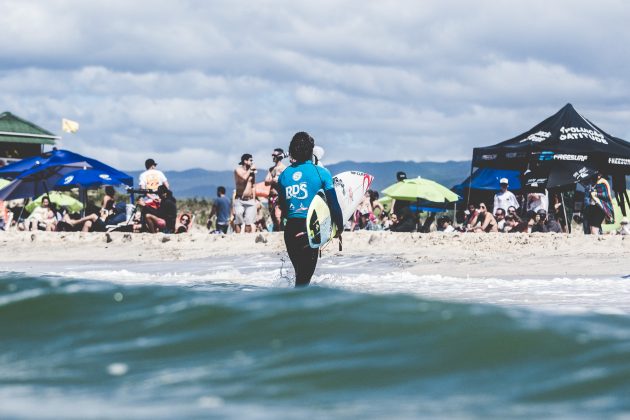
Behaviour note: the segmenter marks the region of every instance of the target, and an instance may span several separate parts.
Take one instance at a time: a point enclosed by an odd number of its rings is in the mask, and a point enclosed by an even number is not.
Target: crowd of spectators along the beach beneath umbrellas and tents
[[[320,152],[323,155],[323,150]],[[250,154],[244,154],[234,171],[235,193],[226,196],[226,188],[217,189],[206,227],[210,233],[240,233],[282,231],[283,220],[277,212],[277,179],[284,170],[282,149],[274,149],[273,166],[268,170],[264,184],[269,187],[268,205],[264,206],[256,195],[256,167]],[[321,161],[318,164],[322,165]],[[146,170],[139,178],[140,196],[134,204],[121,200],[111,186],[104,188],[100,206],[88,207],[82,214],[70,213],[44,197],[30,213],[18,207],[9,209],[0,202],[0,230],[15,226],[18,230],[106,232],[128,231],[149,233],[185,233],[193,226],[191,212],[179,212],[177,200],[169,188],[168,179],[157,168],[153,159],[145,162]],[[397,174],[398,181],[406,178]],[[133,194],[133,192],[132,192]],[[602,233],[604,220],[612,218],[610,187],[605,177],[598,174],[587,189],[584,211],[574,216],[583,223],[584,233]],[[133,197],[133,195],[132,195]],[[562,233],[567,232],[567,215],[560,197],[554,193],[549,199],[547,191],[529,192],[519,199],[509,190],[508,180],[500,180],[500,189],[489,207],[485,202],[469,203],[458,212],[455,221],[448,215],[436,220],[436,213],[422,211],[414,203],[394,200],[390,208],[379,201],[376,191],[368,190],[353,217],[344,226],[345,231],[384,230],[392,232],[468,232],[468,233]],[[131,200],[134,201],[133,199]],[[19,213],[17,213],[19,212]],[[205,217],[205,216],[204,216]],[[204,219],[205,220],[205,219]],[[617,233],[630,234],[627,219],[621,221]]]

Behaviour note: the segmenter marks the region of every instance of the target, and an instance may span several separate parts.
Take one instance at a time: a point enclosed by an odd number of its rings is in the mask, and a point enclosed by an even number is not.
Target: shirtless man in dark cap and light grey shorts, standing
[[[234,231],[241,233],[241,226],[245,225],[245,232],[251,233],[256,223],[256,167],[254,159],[249,153],[241,156],[241,162],[234,170],[236,195],[234,196]]]

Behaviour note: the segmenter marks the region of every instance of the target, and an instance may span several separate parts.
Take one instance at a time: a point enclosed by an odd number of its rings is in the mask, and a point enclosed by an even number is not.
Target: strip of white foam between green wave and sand
[[[124,263],[67,263],[0,266],[0,270],[52,275],[70,279],[101,280],[125,285],[236,284],[241,290],[291,287],[293,269],[288,260],[261,255],[257,259],[201,259],[193,261]],[[362,293],[403,293],[423,298],[528,307],[555,312],[629,314],[630,279],[621,277],[474,278],[415,275],[374,258],[323,258],[312,284]],[[248,289],[252,287],[252,289]]]

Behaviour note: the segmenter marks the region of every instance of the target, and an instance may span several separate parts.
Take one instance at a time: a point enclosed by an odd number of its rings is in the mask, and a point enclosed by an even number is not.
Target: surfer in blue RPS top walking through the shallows
[[[311,248],[306,233],[308,207],[319,190],[324,190],[332,220],[343,226],[343,216],[330,172],[313,164],[315,140],[306,132],[291,139],[289,154],[293,163],[278,179],[280,206],[287,219],[284,242],[295,270],[295,287],[308,286],[315,272],[319,250]],[[342,229],[337,231],[340,236]]]

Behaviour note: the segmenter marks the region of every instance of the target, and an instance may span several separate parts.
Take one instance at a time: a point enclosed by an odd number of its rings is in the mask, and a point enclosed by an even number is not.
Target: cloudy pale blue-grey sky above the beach
[[[0,112],[124,170],[468,160],[567,102],[630,139],[624,1],[3,0]]]

